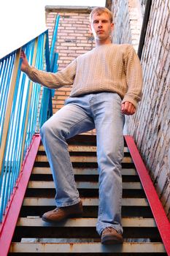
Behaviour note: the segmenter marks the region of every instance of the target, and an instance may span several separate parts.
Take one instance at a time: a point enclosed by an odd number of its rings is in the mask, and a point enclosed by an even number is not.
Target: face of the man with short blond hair
[[[101,15],[93,14],[90,29],[93,32],[96,42],[106,44],[110,42],[110,34],[113,29],[113,23],[109,20],[107,12]]]

